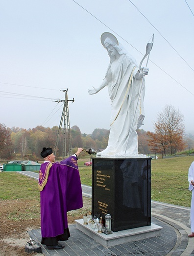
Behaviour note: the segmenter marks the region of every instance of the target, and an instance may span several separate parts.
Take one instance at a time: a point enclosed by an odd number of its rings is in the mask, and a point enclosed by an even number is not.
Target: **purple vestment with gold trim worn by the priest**
[[[42,237],[55,237],[68,227],[67,212],[83,207],[76,157],[41,164],[38,186]]]

